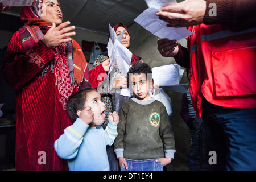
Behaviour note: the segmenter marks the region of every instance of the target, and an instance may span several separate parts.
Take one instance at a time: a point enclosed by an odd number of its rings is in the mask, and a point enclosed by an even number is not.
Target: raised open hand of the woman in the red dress
[[[46,35],[42,41],[46,44],[47,47],[55,47],[59,46],[64,42],[71,41],[69,36],[76,35],[76,32],[72,31],[75,30],[75,26],[69,26],[69,21],[61,23],[59,26],[56,27],[55,23],[52,23],[52,27],[47,31]],[[69,32],[72,31],[72,32]]]

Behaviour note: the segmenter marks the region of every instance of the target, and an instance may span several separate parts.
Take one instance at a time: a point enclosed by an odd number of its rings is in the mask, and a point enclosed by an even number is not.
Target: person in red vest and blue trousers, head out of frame
[[[255,8],[253,0],[186,0],[156,13],[168,27],[194,32],[188,48],[159,39],[158,50],[190,68],[193,107],[218,170],[256,169]]]

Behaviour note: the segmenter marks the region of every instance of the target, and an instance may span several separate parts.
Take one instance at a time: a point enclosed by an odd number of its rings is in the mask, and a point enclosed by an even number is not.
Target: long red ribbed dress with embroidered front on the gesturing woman
[[[52,59],[54,73],[49,68],[40,78],[44,65]],[[68,96],[77,91],[70,84],[65,44],[50,49],[39,40],[24,52],[16,31],[9,42],[2,73],[16,89],[16,170],[68,169],[53,147],[72,124],[65,104]]]

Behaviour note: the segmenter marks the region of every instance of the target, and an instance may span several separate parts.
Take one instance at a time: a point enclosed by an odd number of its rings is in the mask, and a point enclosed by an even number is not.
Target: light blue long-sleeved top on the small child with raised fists
[[[54,147],[60,158],[68,159],[71,171],[109,170],[106,145],[112,145],[117,137],[117,122],[109,120],[102,126],[89,127],[77,118],[73,125],[55,141]]]

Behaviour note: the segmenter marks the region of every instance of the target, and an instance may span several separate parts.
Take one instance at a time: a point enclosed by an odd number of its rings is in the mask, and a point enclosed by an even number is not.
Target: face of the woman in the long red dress
[[[49,23],[55,23],[56,26],[62,23],[62,12],[57,0],[43,0],[41,18]]]

